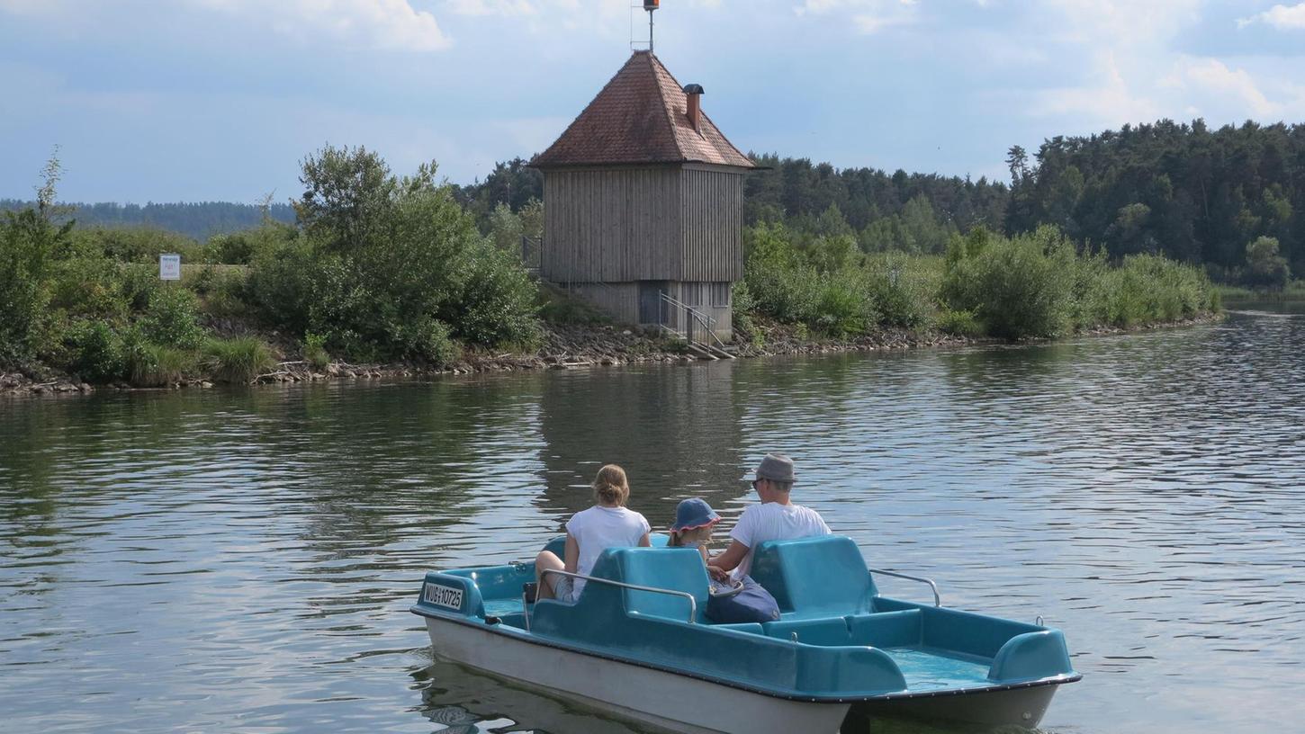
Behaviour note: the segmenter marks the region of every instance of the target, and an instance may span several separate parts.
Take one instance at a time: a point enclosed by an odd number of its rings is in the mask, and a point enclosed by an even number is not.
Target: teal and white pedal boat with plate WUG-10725
[[[525,605],[530,563],[431,572],[412,611],[437,654],[681,731],[837,731],[851,707],[1035,726],[1081,677],[1057,630],[880,596],[846,537],[762,544],[752,576],[779,621],[710,623],[698,553],[660,548],[606,550],[576,604]]]

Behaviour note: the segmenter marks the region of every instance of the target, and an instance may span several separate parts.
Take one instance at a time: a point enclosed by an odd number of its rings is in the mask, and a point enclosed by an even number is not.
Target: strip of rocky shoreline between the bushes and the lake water
[[[1207,314],[1177,322],[1134,329],[1098,329],[1079,335],[1104,336],[1133,331],[1195,326],[1220,321],[1223,314]],[[906,351],[919,348],[957,348],[974,344],[1000,344],[1000,339],[975,339],[938,331],[915,332],[904,329],[880,330],[853,339],[813,339],[800,327],[761,323],[756,327],[760,338],[739,340],[728,349],[740,359],[792,355],[826,355],[839,352]],[[1019,342],[1021,344],[1031,342]],[[683,343],[655,336],[643,330],[622,326],[559,326],[547,325],[544,340],[532,353],[467,351],[458,362],[444,368],[415,364],[350,364],[335,361],[324,369],[313,369],[303,360],[284,360],[266,374],[258,375],[256,385],[278,382],[355,381],[405,377],[431,377],[440,374],[471,374],[489,372],[517,372],[543,369],[586,369],[646,362],[694,362],[702,357],[689,353]],[[86,395],[97,390],[138,391],[175,390],[180,387],[213,387],[213,382],[193,377],[170,387],[134,387],[125,382],[91,386],[73,375],[51,374],[33,377],[25,373],[0,373],[0,395]]]

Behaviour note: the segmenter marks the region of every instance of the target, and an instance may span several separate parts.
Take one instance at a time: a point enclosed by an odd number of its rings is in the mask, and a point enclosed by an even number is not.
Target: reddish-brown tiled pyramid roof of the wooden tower
[[[536,168],[616,163],[716,163],[754,168],[716,125],[699,112],[688,117],[688,95],[651,52],[636,51],[589,107],[548,150]]]

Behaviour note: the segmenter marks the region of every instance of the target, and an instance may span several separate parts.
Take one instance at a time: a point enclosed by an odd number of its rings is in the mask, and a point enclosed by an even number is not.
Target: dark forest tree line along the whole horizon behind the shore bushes
[[[863,253],[942,254],[975,227],[1017,236],[1054,224],[1118,261],[1163,254],[1216,280],[1282,286],[1305,272],[1305,125],[1161,120],[1007,151],[1010,183],[934,173],[835,168],[805,158],[752,154],[744,224],[783,224],[803,246]],[[453,198],[501,248],[542,231],[543,175],[525,158],[483,180],[450,185]],[[0,199],[0,210],[31,202]],[[292,223],[288,203],[76,205],[82,226],[146,224],[196,240]]]

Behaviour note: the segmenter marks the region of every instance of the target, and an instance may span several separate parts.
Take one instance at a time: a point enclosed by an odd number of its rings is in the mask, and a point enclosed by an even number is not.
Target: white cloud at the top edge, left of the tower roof
[[[440,51],[450,46],[435,16],[408,0],[191,0],[193,5],[266,25],[304,44],[341,43],[377,51]]]

